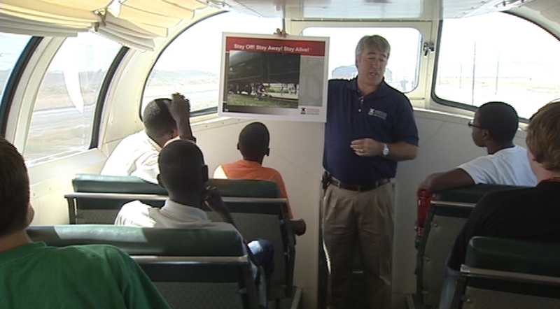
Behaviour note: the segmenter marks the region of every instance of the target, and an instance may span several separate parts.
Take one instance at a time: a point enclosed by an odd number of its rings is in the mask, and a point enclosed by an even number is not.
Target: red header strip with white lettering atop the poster
[[[324,57],[325,42],[226,36],[225,50],[245,50],[247,52],[284,52],[304,56]]]

